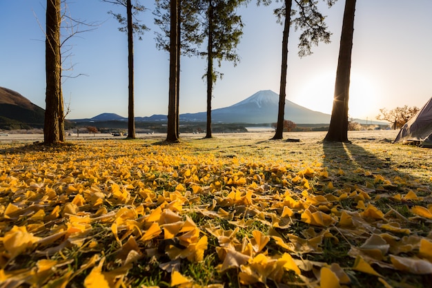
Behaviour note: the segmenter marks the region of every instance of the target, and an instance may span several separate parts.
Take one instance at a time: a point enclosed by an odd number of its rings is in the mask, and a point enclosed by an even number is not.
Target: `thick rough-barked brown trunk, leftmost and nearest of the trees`
[[[43,126],[43,142],[57,144],[59,135],[59,100],[60,100],[60,0],[46,1],[46,107],[45,122]]]

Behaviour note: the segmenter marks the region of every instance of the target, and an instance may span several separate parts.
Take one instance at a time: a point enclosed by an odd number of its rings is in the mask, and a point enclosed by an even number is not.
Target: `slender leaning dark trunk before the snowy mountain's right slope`
[[[279,88],[279,111],[277,113],[277,126],[273,140],[283,138],[284,133],[284,113],[286,99],[286,73],[288,70],[288,37],[291,22],[291,6],[292,0],[285,0],[285,23],[284,35],[282,37],[282,66],[280,73],[280,88]]]

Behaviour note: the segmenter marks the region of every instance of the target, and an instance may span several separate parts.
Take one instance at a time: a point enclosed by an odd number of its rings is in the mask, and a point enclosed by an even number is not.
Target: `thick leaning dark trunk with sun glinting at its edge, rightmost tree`
[[[324,138],[327,142],[348,142],[348,99],[353,50],[355,0],[345,1],[344,20],[340,37],[339,59],[335,81],[335,95],[330,126]]]

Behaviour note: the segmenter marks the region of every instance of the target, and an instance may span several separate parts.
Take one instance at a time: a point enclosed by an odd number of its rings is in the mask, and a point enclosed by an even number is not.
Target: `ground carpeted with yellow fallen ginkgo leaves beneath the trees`
[[[0,142],[0,287],[429,287],[432,151],[270,137]]]

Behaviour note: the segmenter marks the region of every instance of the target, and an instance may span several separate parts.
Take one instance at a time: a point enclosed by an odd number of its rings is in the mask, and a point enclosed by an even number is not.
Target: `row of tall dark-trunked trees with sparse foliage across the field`
[[[65,1],[65,0],[63,0]],[[133,35],[143,33],[146,26],[134,21],[134,15],[145,10],[138,1],[104,0],[126,8],[126,18],[110,12],[121,23],[119,30],[128,34],[128,137],[135,137],[134,116],[134,76],[133,76]],[[284,131],[284,105],[286,99],[286,75],[288,69],[288,39],[290,27],[302,30],[300,35],[300,57],[311,54],[312,46],[321,41],[328,43],[331,33],[328,31],[325,17],[317,9],[317,1],[310,0],[257,0],[257,4],[269,5],[281,3],[274,10],[277,21],[284,26],[282,35],[282,64],[279,89],[279,109],[277,126],[273,139],[282,139]],[[326,1],[329,7],[337,0]],[[212,137],[211,99],[213,86],[222,73],[215,69],[222,61],[239,61],[237,44],[242,37],[242,18],[237,15],[237,8],[248,0],[155,0],[155,23],[161,28],[157,33],[157,47],[168,50],[170,55],[170,76],[168,92],[168,129],[167,142],[179,141],[179,77],[180,55],[198,55],[206,59],[207,68],[203,78],[207,82],[207,128],[206,137]],[[351,50],[353,44],[353,21],[355,0],[345,1],[344,21],[340,41],[340,56],[335,81],[335,96],[331,124],[326,141],[348,141],[348,90],[351,70]],[[46,8],[46,119],[44,142],[55,144],[64,140],[64,107],[61,94],[61,0],[47,0]],[[135,19],[136,20],[136,19]],[[206,41],[205,41],[206,40]],[[205,50],[199,48],[205,45]]]

